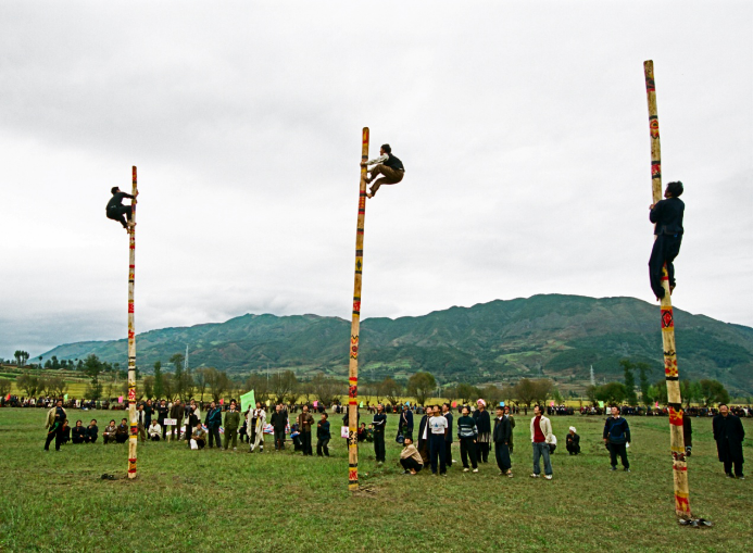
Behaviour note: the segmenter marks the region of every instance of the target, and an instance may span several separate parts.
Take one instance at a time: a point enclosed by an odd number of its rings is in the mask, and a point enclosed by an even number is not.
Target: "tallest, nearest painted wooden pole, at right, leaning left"
[[[656,85],[654,81],[654,62],[643,62],[645,74],[645,92],[649,100],[649,129],[651,135],[651,192],[653,203],[662,199],[662,149],[658,138],[658,115],[656,111]],[[664,298],[662,310],[662,344],[664,349],[664,377],[667,382],[667,403],[669,404],[669,448],[672,450],[673,473],[675,481],[675,513],[678,517],[690,519],[690,490],[688,489],[688,463],[685,456],[685,438],[682,436],[682,398],[680,395],[680,377],[677,369],[677,351],[675,349],[675,317],[672,311],[669,277],[666,265],[662,269]]]

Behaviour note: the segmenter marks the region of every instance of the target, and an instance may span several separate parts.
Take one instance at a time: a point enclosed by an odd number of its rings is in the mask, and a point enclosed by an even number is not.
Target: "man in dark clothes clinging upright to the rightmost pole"
[[[669,277],[669,293],[675,289],[675,265],[673,262],[680,253],[682,243],[682,214],[685,203],[680,200],[682,194],[682,183],[669,183],[664,191],[665,200],[652,204],[649,209],[649,218],[656,224],[654,228],[654,247],[649,259],[649,276],[651,289],[657,300],[664,298],[662,288],[662,267],[666,263],[667,276]]]

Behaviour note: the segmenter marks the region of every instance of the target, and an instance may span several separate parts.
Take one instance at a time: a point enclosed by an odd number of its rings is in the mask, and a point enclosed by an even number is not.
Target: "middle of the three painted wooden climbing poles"
[[[368,127],[364,127],[361,160],[368,160]],[[348,489],[359,489],[359,336],[361,326],[361,278],[363,275],[363,225],[366,217],[366,175],[361,167],[359,186],[359,222],[355,228],[355,279],[353,282],[353,319],[350,325],[350,366],[348,370]]]

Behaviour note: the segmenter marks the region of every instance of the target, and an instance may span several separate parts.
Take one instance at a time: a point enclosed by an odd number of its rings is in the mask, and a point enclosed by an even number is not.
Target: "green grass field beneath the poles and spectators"
[[[513,470],[495,464],[447,478],[402,476],[388,416],[388,463],[361,448],[362,491],[347,489],[344,440],[330,458],[290,450],[262,455],[189,451],[184,442],[139,444],[136,480],[125,478],[126,447],[102,445],[110,412],[68,413],[99,420],[100,441],[42,451],[43,410],[0,410],[2,551],[723,551],[750,548],[753,479],[725,478],[710,419],[693,420],[690,505],[710,529],[681,528],[674,514],[666,418],[630,418],[629,474],[608,470],[601,417],[553,417],[561,445],[554,479],[531,479],[528,419],[517,417]],[[362,414],[362,418],[366,417]],[[331,417],[332,435],[339,417]],[[751,419],[743,419],[751,451]],[[564,452],[567,427],[583,453]],[[271,441],[267,441],[267,445]],[[244,451],[244,448],[243,448]],[[563,453],[564,452],[564,453]],[[460,458],[457,443],[453,456]]]

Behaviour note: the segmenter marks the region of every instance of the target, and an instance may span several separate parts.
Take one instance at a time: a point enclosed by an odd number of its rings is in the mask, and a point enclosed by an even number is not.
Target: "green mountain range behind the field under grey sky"
[[[714,378],[735,394],[753,393],[753,328],[675,309],[681,378]],[[292,369],[348,374],[350,322],[318,315],[252,315],[225,323],[163,328],[137,336],[137,364],[150,373],[175,353],[189,351],[191,367],[229,375]],[[126,365],[127,341],[59,345],[42,355],[59,360],[96,354]],[[599,382],[622,376],[629,357],[663,377],[658,305],[635,298],[539,294],[451,307],[423,316],[368,318],[361,323],[362,379],[406,378],[431,372],[441,384],[514,382],[553,378],[585,387],[592,366]]]

